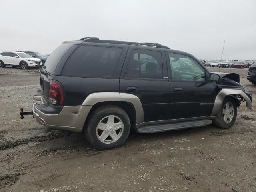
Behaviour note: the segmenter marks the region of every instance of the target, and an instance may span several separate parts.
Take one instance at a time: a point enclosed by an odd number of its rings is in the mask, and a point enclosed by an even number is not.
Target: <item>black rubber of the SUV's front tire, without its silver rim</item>
[[[233,119],[230,123],[226,123],[223,119],[223,108],[225,106],[225,104],[227,102],[231,102],[234,106],[234,116],[233,116]],[[217,115],[217,118],[213,120],[213,124],[215,126],[217,126],[218,128],[222,128],[222,129],[228,129],[228,128],[231,128],[232,125],[235,123],[236,121],[236,116],[237,116],[237,104],[236,102],[234,101],[233,98],[231,97],[227,97],[224,99],[223,103],[222,103],[222,106],[221,106],[221,110],[220,112],[218,113]]]

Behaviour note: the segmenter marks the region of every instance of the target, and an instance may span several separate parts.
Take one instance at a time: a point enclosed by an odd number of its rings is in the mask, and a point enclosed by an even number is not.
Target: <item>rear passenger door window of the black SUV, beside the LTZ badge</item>
[[[126,70],[128,78],[163,78],[162,54],[159,51],[132,50]]]

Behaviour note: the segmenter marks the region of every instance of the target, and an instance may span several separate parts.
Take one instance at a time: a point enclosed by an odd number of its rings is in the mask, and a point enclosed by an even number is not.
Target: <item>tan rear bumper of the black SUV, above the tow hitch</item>
[[[49,111],[49,108],[44,110],[47,107],[42,95],[35,94],[33,113],[36,121],[48,128],[70,130],[72,132],[82,132],[85,120],[92,108],[92,106],[64,106],[58,114],[52,114],[54,112]]]

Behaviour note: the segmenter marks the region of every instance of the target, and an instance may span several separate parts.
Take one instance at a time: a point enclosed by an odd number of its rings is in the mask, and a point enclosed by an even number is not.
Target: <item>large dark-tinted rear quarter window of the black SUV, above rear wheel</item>
[[[112,77],[121,52],[121,48],[80,46],[67,60],[62,75]]]

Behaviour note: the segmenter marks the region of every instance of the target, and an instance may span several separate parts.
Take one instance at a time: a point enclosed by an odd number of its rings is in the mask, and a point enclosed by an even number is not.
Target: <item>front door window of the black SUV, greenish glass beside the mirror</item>
[[[172,80],[205,81],[205,70],[194,59],[181,54],[168,54]]]

